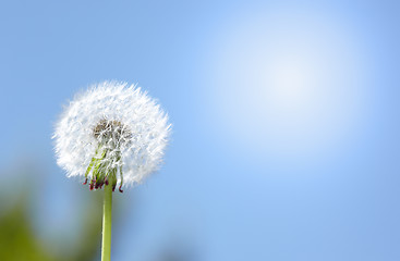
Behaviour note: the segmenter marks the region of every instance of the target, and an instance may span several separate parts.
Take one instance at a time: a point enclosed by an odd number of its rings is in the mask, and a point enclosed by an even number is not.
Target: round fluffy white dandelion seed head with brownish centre
[[[69,177],[92,179],[90,189],[112,175],[113,186],[137,184],[158,170],[170,128],[168,115],[141,88],[104,82],[61,114],[53,135],[57,162]]]

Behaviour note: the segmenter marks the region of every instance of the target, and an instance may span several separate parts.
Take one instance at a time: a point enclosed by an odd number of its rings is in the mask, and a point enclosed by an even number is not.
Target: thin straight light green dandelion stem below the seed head
[[[102,244],[101,261],[111,260],[111,214],[112,214],[112,185],[105,186],[105,204],[102,209]]]

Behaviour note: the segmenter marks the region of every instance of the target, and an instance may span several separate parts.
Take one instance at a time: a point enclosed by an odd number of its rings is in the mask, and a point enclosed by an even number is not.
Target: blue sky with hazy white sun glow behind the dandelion
[[[137,83],[173,136],[161,171],[114,198],[116,260],[171,241],[199,260],[399,260],[399,12],[396,1],[3,1],[1,171],[40,165],[37,229],[73,240],[86,194],[56,165],[53,123],[93,83]]]

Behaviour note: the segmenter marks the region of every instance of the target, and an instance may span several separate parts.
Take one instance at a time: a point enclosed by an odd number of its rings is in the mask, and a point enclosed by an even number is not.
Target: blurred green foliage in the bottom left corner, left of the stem
[[[83,231],[73,249],[57,252],[35,234],[29,217],[31,191],[19,192],[19,199],[0,214],[0,260],[7,261],[87,261],[95,260],[100,249],[101,200],[96,195],[83,216]],[[98,199],[98,200],[97,200]],[[3,207],[3,206],[2,206]],[[96,210],[97,209],[97,210]],[[57,244],[62,245],[62,238]],[[68,246],[72,248],[71,246]]]

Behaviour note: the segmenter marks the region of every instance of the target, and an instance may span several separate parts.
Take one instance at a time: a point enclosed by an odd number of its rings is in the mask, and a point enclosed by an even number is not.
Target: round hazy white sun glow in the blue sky
[[[232,142],[307,157],[354,132],[363,65],[346,27],[275,14],[234,22],[217,38],[208,90],[213,116]]]

